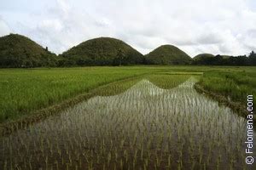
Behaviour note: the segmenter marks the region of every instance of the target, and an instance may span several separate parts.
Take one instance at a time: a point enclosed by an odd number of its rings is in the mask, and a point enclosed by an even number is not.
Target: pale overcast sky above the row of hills
[[[19,33],[61,54],[116,37],[143,54],[172,44],[196,54],[256,50],[255,0],[0,0],[0,37]]]

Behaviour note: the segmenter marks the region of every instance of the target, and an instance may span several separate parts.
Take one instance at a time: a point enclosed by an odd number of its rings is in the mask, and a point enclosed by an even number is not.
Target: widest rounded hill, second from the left
[[[144,56],[127,43],[98,37],[80,43],[61,54],[62,65],[137,65],[144,64]]]

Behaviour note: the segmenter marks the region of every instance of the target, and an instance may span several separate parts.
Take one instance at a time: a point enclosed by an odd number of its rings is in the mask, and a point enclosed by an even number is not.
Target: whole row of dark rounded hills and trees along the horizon
[[[0,67],[63,67],[85,65],[256,65],[256,54],[229,56],[199,54],[191,59],[179,48],[162,45],[143,56],[127,43],[99,37],[80,43],[60,55],[50,53],[28,37],[0,37]]]

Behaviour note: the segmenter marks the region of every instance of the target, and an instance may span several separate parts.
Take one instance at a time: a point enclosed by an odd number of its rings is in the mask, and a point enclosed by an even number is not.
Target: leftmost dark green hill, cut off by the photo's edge
[[[0,67],[55,66],[57,57],[19,34],[0,37]]]

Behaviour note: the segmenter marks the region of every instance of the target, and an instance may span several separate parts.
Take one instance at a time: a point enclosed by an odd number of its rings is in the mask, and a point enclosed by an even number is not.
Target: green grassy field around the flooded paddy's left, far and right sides
[[[201,74],[201,85],[211,91],[244,101],[255,94],[255,67],[125,66],[0,70],[0,122],[28,116],[103,84],[153,72]],[[152,77],[154,78],[154,77]],[[156,81],[160,84],[162,79]]]

